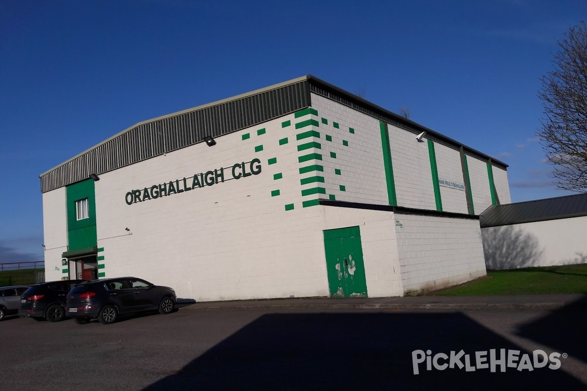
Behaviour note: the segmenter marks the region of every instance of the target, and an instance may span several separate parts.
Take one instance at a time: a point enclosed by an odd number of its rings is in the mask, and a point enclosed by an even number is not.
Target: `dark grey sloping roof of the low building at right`
[[[587,193],[490,206],[481,228],[587,216]]]

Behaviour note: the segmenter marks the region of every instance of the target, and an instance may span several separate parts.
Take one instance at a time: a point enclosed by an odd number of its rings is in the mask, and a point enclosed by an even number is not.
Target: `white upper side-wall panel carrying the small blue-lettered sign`
[[[438,178],[460,183],[464,186],[460,152],[438,142],[434,143],[434,152],[436,154]],[[442,210],[444,212],[468,213],[467,194],[464,189],[440,186],[440,199],[442,200]]]

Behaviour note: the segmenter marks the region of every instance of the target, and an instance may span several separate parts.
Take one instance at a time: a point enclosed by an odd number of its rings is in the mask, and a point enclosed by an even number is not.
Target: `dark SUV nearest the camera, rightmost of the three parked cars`
[[[173,311],[176,291],[136,277],[104,278],[76,285],[68,294],[67,316],[78,324],[98,318],[103,324],[116,322],[119,314],[159,310]]]

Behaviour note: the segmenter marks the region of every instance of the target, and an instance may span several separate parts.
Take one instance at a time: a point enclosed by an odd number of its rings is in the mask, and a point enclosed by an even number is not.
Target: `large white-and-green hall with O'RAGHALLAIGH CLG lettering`
[[[48,280],[198,301],[401,296],[485,275],[507,165],[313,76],[144,121],[41,174]]]

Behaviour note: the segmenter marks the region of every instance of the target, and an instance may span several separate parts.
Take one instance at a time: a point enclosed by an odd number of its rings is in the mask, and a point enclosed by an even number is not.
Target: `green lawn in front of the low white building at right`
[[[439,296],[587,293],[587,264],[488,270],[486,278],[443,291]]]

